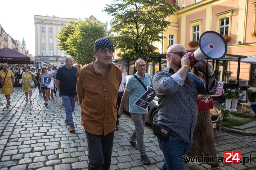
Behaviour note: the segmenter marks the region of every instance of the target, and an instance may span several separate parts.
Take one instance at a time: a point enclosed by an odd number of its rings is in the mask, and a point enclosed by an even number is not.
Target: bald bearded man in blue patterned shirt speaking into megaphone
[[[186,155],[193,142],[193,131],[197,122],[197,95],[213,95],[218,86],[218,81],[214,79],[213,66],[205,60],[199,63],[197,61],[197,65],[207,74],[208,86],[195,74],[189,73],[190,55],[191,52],[187,52],[181,44],[171,45],[166,54],[167,67],[153,77],[159,99],[157,127],[160,127],[160,130],[153,130],[160,131],[157,138],[165,158],[161,170],[184,169],[181,154]],[[165,131],[170,131],[168,140],[162,138]]]

